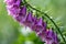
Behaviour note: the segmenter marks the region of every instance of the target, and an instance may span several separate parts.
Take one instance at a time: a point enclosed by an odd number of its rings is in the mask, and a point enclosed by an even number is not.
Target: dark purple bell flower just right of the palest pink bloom
[[[19,21],[20,23],[22,23],[23,21],[25,21],[26,18],[26,7],[23,6],[20,10],[20,13],[18,14],[18,16],[15,16],[15,20]]]

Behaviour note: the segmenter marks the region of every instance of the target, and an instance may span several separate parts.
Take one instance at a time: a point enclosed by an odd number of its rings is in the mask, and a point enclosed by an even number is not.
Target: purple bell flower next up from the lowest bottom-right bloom
[[[36,33],[44,30],[42,18],[40,18],[40,20],[36,20],[36,22],[34,23],[34,25],[32,26],[32,29],[33,29]]]

